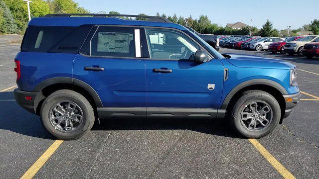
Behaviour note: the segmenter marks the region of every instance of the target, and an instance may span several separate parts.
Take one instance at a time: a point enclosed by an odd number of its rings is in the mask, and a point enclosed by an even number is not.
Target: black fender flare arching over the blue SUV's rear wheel
[[[45,87],[48,87],[48,86],[54,85],[54,84],[70,84],[70,85],[78,86],[78,87],[86,90],[92,96],[97,107],[103,107],[102,101],[101,101],[98,93],[90,85],[88,85],[87,83],[85,83],[81,80],[74,79],[71,77],[54,77],[54,78],[46,79],[46,80],[42,81],[41,83],[39,83],[33,89],[33,91],[40,92]]]

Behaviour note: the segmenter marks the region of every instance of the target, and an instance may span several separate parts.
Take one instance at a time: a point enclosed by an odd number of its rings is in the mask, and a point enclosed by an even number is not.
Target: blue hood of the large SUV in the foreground
[[[264,68],[264,69],[293,69],[295,65],[283,60],[263,58],[254,55],[231,54],[231,58],[227,59],[229,63],[241,68]]]

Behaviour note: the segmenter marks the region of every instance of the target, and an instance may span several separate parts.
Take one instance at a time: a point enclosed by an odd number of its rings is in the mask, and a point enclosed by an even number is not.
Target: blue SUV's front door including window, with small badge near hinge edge
[[[147,28],[150,58],[145,59],[148,113],[152,108],[217,109],[224,67],[217,59],[196,64],[201,47],[182,31]],[[155,109],[157,110],[157,109]]]

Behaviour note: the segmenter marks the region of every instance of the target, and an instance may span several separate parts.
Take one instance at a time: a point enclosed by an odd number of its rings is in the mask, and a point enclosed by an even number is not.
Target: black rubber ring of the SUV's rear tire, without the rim
[[[83,122],[80,124],[78,129],[70,133],[58,131],[52,126],[49,119],[50,109],[54,105],[56,105],[58,102],[61,102],[63,100],[69,100],[76,103],[78,106],[80,106],[83,112],[83,117],[82,117]],[[73,140],[82,136],[87,130],[90,130],[90,126],[91,126],[90,124],[92,123],[92,120],[94,123],[94,113],[93,113],[92,107],[91,109],[90,107],[91,105],[88,106],[88,104],[85,101],[83,101],[83,99],[80,99],[76,95],[72,95],[68,93],[57,93],[52,96],[51,95],[48,96],[43,102],[43,105],[41,108],[41,114],[40,114],[41,121],[45,129],[53,136],[59,139]],[[92,116],[92,113],[93,113],[93,116]]]

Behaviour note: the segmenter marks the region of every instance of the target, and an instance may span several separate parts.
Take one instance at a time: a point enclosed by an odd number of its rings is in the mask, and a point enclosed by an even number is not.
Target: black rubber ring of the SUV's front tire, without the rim
[[[241,110],[245,107],[245,105],[258,100],[265,101],[271,107],[273,111],[273,119],[266,129],[256,132],[248,131],[241,123]],[[234,127],[241,135],[248,138],[260,138],[272,132],[273,129],[277,126],[281,117],[281,110],[279,103],[272,95],[268,93],[253,92],[248,95],[243,95],[236,102],[232,111],[232,117],[234,120]]]

